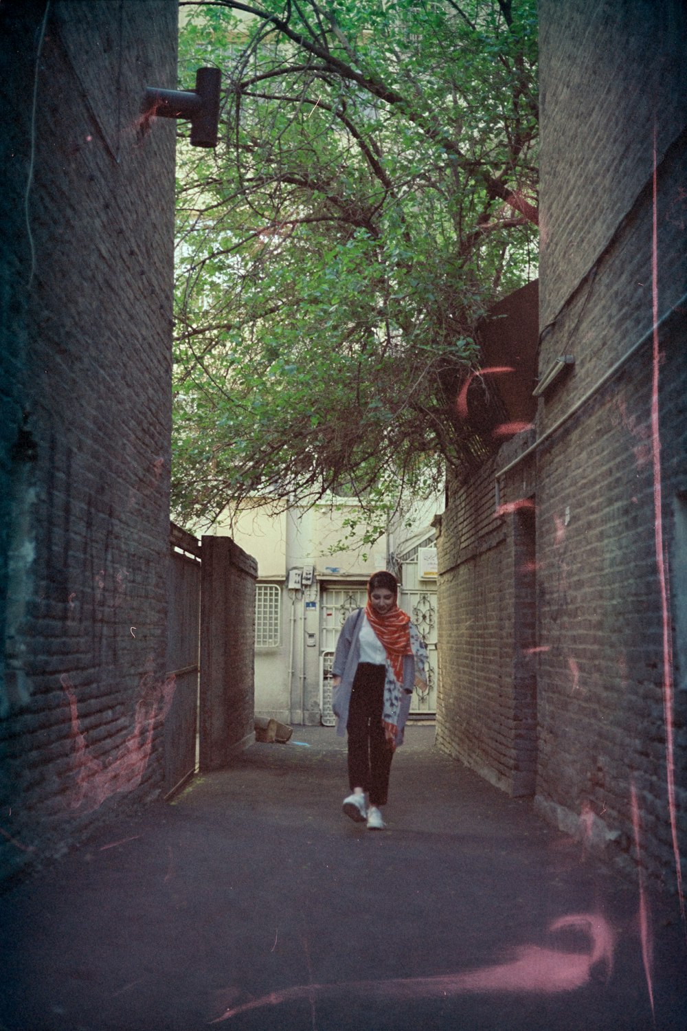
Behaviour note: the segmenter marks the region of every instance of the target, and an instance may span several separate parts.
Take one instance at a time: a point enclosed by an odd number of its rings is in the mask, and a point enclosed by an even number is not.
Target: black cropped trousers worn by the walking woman
[[[348,706],[348,783],[370,793],[371,805],[384,805],[393,753],[382,726],[384,666],[358,663]]]

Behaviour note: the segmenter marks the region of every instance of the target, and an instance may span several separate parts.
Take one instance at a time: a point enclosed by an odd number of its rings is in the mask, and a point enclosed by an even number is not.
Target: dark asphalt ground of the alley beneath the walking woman
[[[677,900],[642,916],[638,883],[433,742],[408,728],[383,831],[342,814],[323,727],[101,828],[0,898],[0,1029],[687,1028]]]

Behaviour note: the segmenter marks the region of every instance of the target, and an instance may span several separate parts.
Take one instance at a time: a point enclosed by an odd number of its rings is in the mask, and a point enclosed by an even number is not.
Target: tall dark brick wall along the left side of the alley
[[[10,871],[162,777],[175,134],[138,117],[146,85],[175,86],[176,18],[174,0],[0,10]]]

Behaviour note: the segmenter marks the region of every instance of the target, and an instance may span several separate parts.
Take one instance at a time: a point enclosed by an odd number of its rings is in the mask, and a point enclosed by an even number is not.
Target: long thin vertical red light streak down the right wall
[[[652,353],[652,385],[651,385],[651,445],[654,472],[654,528],[656,546],[656,568],[661,599],[661,619],[663,624],[663,722],[665,724],[665,780],[667,801],[671,816],[671,835],[673,838],[673,855],[680,898],[680,912],[683,927],[685,924],[685,896],[682,888],[682,870],[680,861],[680,845],[678,842],[678,820],[675,799],[675,758],[673,740],[673,641],[671,637],[669,587],[668,570],[665,561],[663,544],[662,521],[662,485],[661,485],[661,442],[658,411],[658,370],[660,356],[658,352],[658,175],[656,156],[656,126],[654,123],[653,140],[653,184],[652,205],[653,221],[651,227],[651,306],[653,318],[653,353]]]

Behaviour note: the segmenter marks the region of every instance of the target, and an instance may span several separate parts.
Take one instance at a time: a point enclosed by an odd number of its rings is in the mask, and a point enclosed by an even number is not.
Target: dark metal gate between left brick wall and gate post
[[[174,696],[165,720],[165,795],[197,768],[201,546],[185,530],[170,526],[167,675]]]

